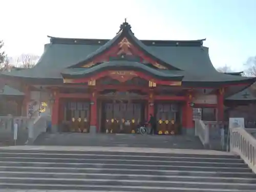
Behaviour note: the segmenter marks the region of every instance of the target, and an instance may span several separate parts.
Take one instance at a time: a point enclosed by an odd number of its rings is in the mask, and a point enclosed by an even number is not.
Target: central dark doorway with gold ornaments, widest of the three
[[[102,133],[134,133],[140,122],[145,120],[143,101],[102,102]]]

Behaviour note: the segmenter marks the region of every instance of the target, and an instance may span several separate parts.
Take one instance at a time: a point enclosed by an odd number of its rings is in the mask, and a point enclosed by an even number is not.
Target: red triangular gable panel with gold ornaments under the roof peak
[[[129,60],[137,61],[147,65],[155,66],[158,69],[167,69],[166,67],[160,65],[154,59],[147,57],[142,51],[138,50],[126,37],[123,37],[116,46],[112,46],[108,51],[102,53],[102,55],[97,56],[93,61],[90,61],[83,65],[83,68],[90,68],[97,63],[102,63],[110,60]]]

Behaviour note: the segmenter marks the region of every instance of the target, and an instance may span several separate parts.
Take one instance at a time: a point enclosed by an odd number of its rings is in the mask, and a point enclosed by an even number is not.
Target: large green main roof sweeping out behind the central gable
[[[223,74],[216,71],[209,58],[208,48],[202,46],[201,40],[193,41],[157,41],[137,39],[131,30],[128,30],[130,38],[136,41],[141,50],[153,57],[157,57],[167,65],[180,70],[165,70],[163,73],[184,76],[182,81],[194,83],[194,86],[219,86],[221,83],[252,83],[255,78],[241,77],[231,74]],[[104,51],[113,44],[114,39],[102,42],[102,39],[65,39],[51,37],[51,43],[45,46],[44,54],[40,57],[37,65],[32,69],[14,70],[4,72],[6,77],[25,77],[31,82],[49,81],[62,82],[61,72],[76,65],[79,62],[90,59],[100,51]],[[153,44],[154,42],[154,44]],[[105,44],[104,44],[105,43]],[[104,44],[104,45],[102,45]],[[140,67],[138,66],[138,69]]]

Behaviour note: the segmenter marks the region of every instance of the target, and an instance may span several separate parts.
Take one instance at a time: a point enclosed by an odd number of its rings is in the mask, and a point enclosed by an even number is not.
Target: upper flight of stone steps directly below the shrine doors
[[[43,133],[34,145],[50,146],[109,146],[203,149],[198,137],[184,135],[140,135],[140,134],[86,134],[86,133]]]

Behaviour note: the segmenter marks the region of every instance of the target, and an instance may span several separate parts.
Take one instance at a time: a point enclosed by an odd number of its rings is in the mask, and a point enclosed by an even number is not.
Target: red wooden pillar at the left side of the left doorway
[[[54,102],[52,105],[52,132],[57,132],[59,129],[59,94],[53,92]]]

